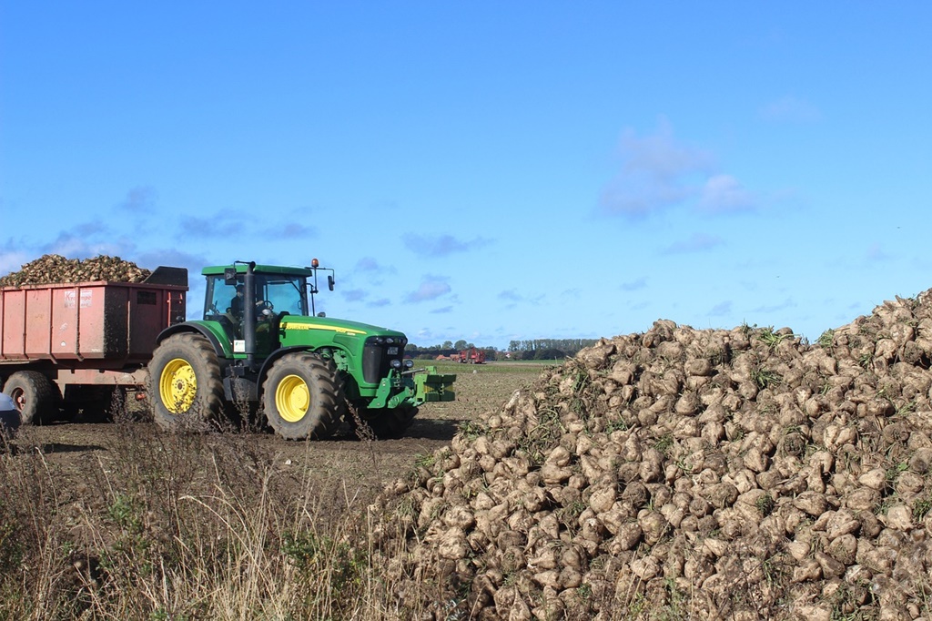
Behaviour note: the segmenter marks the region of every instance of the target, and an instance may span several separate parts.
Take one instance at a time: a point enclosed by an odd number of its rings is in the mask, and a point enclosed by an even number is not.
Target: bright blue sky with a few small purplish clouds
[[[423,346],[815,340],[932,287],[930,32],[921,2],[0,0],[0,274],[187,267],[197,309],[201,266],[318,257],[318,310]]]

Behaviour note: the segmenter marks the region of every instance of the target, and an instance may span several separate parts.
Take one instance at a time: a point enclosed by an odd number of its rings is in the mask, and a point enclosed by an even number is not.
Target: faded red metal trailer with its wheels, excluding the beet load
[[[183,268],[158,268],[143,283],[0,288],[0,381],[22,421],[62,406],[100,413],[117,388],[144,388],[158,334],[185,321],[186,292]]]

